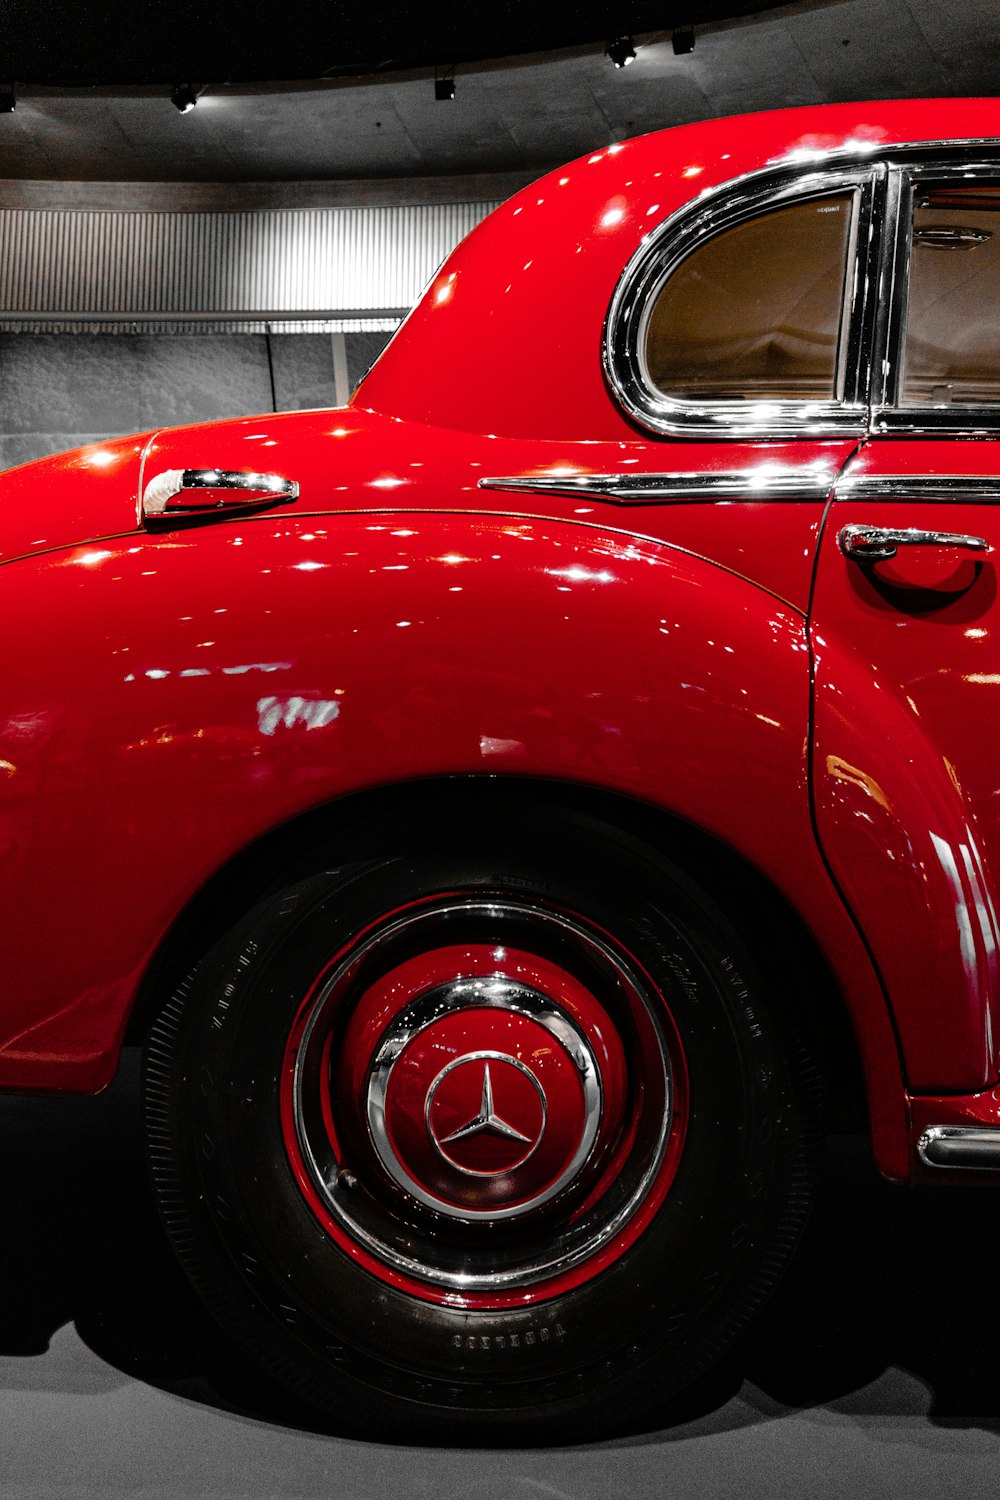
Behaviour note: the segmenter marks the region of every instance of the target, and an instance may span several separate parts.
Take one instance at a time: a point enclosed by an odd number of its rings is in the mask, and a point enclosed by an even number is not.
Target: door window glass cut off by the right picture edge
[[[900,402],[1000,402],[1000,186],[915,195]]]

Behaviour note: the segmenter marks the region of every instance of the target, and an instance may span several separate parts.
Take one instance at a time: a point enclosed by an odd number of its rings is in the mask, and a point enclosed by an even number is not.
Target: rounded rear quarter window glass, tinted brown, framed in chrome
[[[856,201],[774,208],[681,261],[646,321],[652,386],[681,400],[840,399]]]

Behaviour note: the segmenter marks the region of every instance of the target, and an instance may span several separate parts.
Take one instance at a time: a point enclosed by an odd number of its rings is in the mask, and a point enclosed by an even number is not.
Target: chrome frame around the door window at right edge
[[[984,154],[991,152],[994,154]],[[907,436],[993,436],[1000,432],[1000,402],[996,405],[919,405],[898,402],[903,375],[903,339],[906,333],[913,196],[921,184],[961,182],[963,186],[996,183],[1000,188],[1000,141],[967,142],[960,147],[913,148],[886,154],[889,180],[885,216],[885,262],[888,296],[880,308],[873,348],[871,430]]]

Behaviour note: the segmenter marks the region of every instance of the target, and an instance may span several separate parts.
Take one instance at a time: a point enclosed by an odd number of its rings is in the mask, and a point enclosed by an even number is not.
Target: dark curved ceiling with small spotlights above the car
[[[355,4],[363,9],[363,0]],[[436,100],[430,81],[441,63],[358,80],[270,82],[228,82],[222,70],[211,76],[199,66],[205,46],[222,48],[225,15],[229,70],[240,57],[259,62],[264,54],[274,74],[292,72],[292,44],[307,22],[318,27],[321,12],[313,0],[286,0],[286,9],[279,24],[273,0],[265,27],[261,12],[244,9],[237,16],[234,0],[216,0],[211,12],[199,12],[192,0],[187,9],[184,0],[156,6],[130,0],[127,8],[103,0],[100,9],[91,0],[78,0],[75,9],[66,0],[36,0],[31,8],[0,0],[0,38],[4,28],[10,33],[6,56],[21,58],[19,68],[36,45],[49,80],[58,58],[76,63],[76,78],[97,63],[105,80],[111,72],[135,78],[129,64],[136,57],[154,78],[72,87],[16,76],[16,110],[0,112],[0,207],[135,207],[139,190],[142,206],[171,210],[486,202],[549,166],[645,130],[789,105],[991,94],[1000,78],[999,0],[793,0],[756,6],[742,18],[721,16],[736,9],[729,0],[714,8],[715,21],[700,21],[697,45],[684,56],[675,56],[669,26],[640,32],[652,20],[651,6],[574,8],[567,0],[558,30],[562,46],[468,62],[459,66],[447,104]],[[436,14],[442,32],[453,9]],[[537,18],[528,6],[493,6],[489,34],[499,36],[504,20],[519,22],[495,45],[534,45],[541,32],[529,27],[555,26],[552,9],[537,4]],[[666,22],[678,9],[664,0],[655,21]],[[696,9],[700,16],[708,10],[691,0],[684,15]],[[343,10],[330,0],[322,15],[333,27]],[[414,6],[400,12],[400,36],[415,45],[414,12],[424,14]],[[388,34],[388,14],[378,8],[372,36]],[[112,45],[118,16],[127,16],[124,48]],[[601,24],[607,30],[598,30],[597,42],[570,45],[586,26]],[[357,40],[357,18],[354,26],[343,34]],[[631,68],[615,69],[604,45],[625,27],[639,56]],[[466,34],[474,32],[486,34],[483,24],[469,22]],[[174,52],[165,51],[163,36],[172,39]],[[319,46],[318,32],[313,40],[318,75],[333,54]],[[411,62],[417,56],[402,48],[397,54]],[[343,66],[346,52],[339,57]],[[0,82],[3,68],[0,54]],[[169,100],[180,81],[201,88],[196,108],[186,114]]]

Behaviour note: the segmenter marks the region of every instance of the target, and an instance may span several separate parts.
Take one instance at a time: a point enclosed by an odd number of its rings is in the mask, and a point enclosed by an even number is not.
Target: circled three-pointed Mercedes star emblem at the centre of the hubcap
[[[481,1077],[475,1077],[472,1070],[480,1066]],[[478,1110],[469,1114],[477,1086]],[[466,1053],[450,1062],[430,1084],[424,1112],[435,1150],[472,1178],[502,1176],[523,1166],[541,1140],[546,1116],[546,1095],[535,1074],[502,1052]]]

